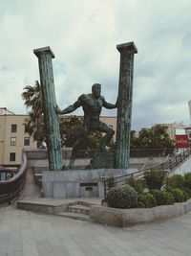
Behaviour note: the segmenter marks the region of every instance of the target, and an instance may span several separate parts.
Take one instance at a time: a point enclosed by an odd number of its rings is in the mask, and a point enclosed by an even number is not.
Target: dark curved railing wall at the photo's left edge
[[[20,171],[9,180],[0,181],[0,204],[9,203],[21,194],[27,174],[27,153],[22,154]]]

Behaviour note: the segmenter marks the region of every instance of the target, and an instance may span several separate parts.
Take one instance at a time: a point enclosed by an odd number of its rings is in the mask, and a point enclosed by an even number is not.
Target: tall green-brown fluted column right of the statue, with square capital
[[[134,42],[118,44],[120,69],[117,106],[116,168],[127,168],[130,153],[130,132],[133,97],[134,54],[138,49]]]

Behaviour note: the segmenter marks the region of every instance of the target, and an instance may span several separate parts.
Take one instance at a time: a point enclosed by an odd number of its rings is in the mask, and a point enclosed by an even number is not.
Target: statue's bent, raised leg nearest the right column
[[[105,147],[112,139],[115,131],[113,128],[108,127],[106,124],[104,124],[102,122],[99,122],[99,125],[96,129],[101,132],[106,133],[106,135],[102,138],[102,140],[100,142],[100,146],[99,146],[99,151],[106,151]]]

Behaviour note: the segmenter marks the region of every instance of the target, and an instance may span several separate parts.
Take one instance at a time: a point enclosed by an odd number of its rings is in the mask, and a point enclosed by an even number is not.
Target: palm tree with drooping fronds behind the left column
[[[42,113],[42,97],[41,87],[38,81],[35,81],[33,86],[27,85],[24,87],[24,92],[21,94],[24,100],[24,105],[27,109],[31,109],[29,118],[25,120],[25,131],[33,136],[33,139],[37,141],[37,147],[42,144],[44,139],[43,128],[43,113]]]

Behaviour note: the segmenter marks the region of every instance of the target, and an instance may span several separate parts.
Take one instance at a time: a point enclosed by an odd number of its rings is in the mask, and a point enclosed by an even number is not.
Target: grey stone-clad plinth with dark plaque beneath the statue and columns
[[[103,198],[103,176],[127,175],[137,169],[96,169],[44,171],[42,192],[45,198]]]

